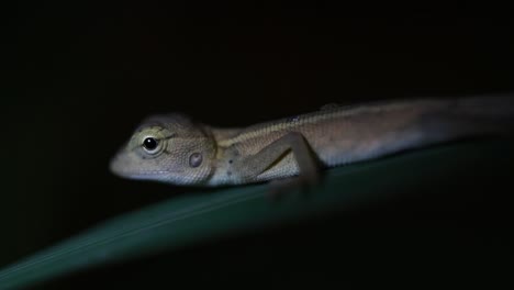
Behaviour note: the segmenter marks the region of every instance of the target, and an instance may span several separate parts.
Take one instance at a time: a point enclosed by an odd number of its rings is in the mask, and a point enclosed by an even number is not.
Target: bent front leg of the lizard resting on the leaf
[[[258,153],[239,159],[234,164],[234,169],[244,181],[252,182],[260,174],[277,165],[289,152],[292,152],[300,170],[297,181],[315,183],[320,175],[320,163],[305,137],[298,132],[290,132]]]

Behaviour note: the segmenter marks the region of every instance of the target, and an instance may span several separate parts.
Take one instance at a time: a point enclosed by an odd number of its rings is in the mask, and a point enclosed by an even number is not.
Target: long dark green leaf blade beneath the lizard
[[[461,142],[326,171],[308,194],[299,189],[272,200],[269,186],[205,189],[110,220],[0,271],[0,288],[34,286],[89,267],[238,235],[391,199],[477,161],[512,160],[512,141]],[[473,168],[473,170],[489,170]]]

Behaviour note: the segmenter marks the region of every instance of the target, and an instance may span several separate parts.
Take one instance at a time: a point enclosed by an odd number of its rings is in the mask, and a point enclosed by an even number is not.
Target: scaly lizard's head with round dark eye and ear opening
[[[216,145],[208,130],[181,114],[145,120],[111,160],[111,171],[131,179],[201,185],[213,172]]]

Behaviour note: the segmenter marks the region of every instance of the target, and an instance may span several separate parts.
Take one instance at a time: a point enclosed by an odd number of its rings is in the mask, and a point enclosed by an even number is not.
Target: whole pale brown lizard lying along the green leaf
[[[182,113],[157,114],[136,127],[111,159],[110,170],[178,186],[294,178],[315,183],[324,168],[511,133],[513,121],[514,99],[509,94],[331,104],[246,127],[211,126]]]

